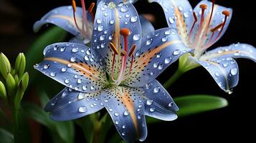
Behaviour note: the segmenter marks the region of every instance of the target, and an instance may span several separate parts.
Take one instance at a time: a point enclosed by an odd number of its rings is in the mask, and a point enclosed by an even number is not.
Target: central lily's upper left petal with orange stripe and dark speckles
[[[35,69],[80,92],[97,92],[106,82],[98,53],[75,43],[56,43],[44,49],[44,61]]]

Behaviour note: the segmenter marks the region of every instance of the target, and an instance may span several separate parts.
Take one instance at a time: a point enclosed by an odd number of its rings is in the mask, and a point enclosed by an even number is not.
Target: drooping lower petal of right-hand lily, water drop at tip
[[[239,71],[237,62],[234,59],[229,57],[227,59],[194,59],[194,61],[204,66],[225,92],[231,93],[232,88],[237,86]]]

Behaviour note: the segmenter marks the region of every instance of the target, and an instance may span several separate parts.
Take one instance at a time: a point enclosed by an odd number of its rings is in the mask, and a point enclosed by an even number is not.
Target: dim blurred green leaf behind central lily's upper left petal
[[[36,41],[34,41],[34,43],[30,46],[29,50],[25,54],[29,74],[34,75],[33,65],[39,63],[44,58],[42,52],[44,51],[45,46],[64,41],[66,36],[67,31],[60,29],[57,26],[53,26],[51,29],[48,29],[41,36],[39,36]],[[33,80],[34,77],[31,79]]]

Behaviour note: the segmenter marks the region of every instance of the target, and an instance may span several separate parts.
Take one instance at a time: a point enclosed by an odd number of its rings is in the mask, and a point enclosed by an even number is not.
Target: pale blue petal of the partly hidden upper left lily
[[[77,7],[75,16],[77,19],[77,25],[82,27],[82,8]],[[93,21],[90,14],[87,14],[87,19],[88,24],[90,24],[90,27],[93,28]],[[56,9],[52,9],[45,14],[42,19],[34,24],[34,31],[39,31],[44,24],[54,24],[60,26],[62,29],[65,29],[75,36],[81,36],[80,31],[77,29],[77,26],[75,26],[72,6],[60,6]],[[87,29],[87,31],[92,32],[92,29]]]

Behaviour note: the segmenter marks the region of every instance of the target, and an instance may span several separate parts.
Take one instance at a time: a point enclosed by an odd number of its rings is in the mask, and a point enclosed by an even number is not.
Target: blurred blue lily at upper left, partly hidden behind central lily
[[[85,9],[84,0],[81,0],[81,5],[82,7],[77,7],[75,0],[72,0],[72,6],[52,9],[34,24],[34,31],[39,31],[44,24],[54,24],[75,36],[70,41],[81,44],[89,43],[93,32],[95,3],[90,5],[88,11]]]

